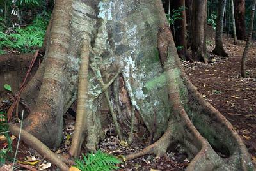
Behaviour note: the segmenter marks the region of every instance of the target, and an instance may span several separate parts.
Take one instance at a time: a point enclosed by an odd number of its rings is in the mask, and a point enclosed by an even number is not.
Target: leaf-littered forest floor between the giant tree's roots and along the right
[[[230,36],[223,35],[223,44],[229,55],[228,58],[223,58],[212,54],[214,38],[211,38],[211,31],[208,33],[207,51],[211,57],[211,63],[183,61],[182,66],[205,100],[209,101],[232,123],[248,147],[252,160],[256,163],[256,42],[253,42],[246,63],[249,78],[241,78],[240,64],[245,41],[238,41],[237,45],[234,45]],[[75,119],[72,115],[65,115],[64,143],[56,149],[57,154],[67,154],[70,148],[70,135],[74,132],[74,123]],[[148,145],[147,139],[138,140],[136,135],[131,146],[120,145],[113,125],[109,125],[105,133],[106,139],[100,142],[99,147],[102,151],[116,156],[131,154]],[[17,138],[13,140],[13,150],[16,149],[16,144]],[[1,147],[3,147],[3,142],[0,140]],[[17,165],[19,169],[22,168],[23,161],[23,166],[33,165],[36,169],[56,170],[56,167],[23,143],[19,145],[17,157],[21,161],[21,165]],[[185,154],[168,152],[168,158],[156,158],[149,155],[127,161],[120,164],[120,170],[185,170],[188,164],[189,160]]]

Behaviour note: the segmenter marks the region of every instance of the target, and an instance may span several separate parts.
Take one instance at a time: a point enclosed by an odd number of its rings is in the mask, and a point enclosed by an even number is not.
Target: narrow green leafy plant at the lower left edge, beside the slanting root
[[[0,111],[0,136],[6,137],[7,144],[4,145],[3,149],[0,151],[0,165],[5,163],[7,152],[12,151],[12,140],[8,133],[7,114],[5,111]]]

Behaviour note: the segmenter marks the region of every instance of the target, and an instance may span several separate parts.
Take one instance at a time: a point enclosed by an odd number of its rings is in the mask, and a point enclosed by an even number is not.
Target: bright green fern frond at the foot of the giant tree
[[[82,160],[75,160],[76,165],[74,167],[79,168],[82,171],[94,171],[94,170],[116,170],[118,167],[115,165],[121,163],[118,158],[109,154],[97,151],[95,154],[90,153],[83,155]]]

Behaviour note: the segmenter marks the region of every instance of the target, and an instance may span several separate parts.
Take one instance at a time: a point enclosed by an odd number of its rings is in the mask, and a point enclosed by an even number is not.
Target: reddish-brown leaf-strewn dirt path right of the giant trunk
[[[241,56],[245,41],[233,45],[231,37],[223,36],[225,50],[230,56],[214,56],[214,40],[207,41],[213,63],[184,62],[183,66],[198,91],[223,114],[244,140],[256,162],[256,42],[253,42],[246,63],[250,78],[240,77]]]

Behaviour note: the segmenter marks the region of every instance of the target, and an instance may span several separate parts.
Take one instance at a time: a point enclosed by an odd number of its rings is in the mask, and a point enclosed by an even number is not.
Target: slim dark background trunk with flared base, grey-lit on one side
[[[218,0],[218,16],[215,36],[215,48],[213,53],[217,56],[228,57],[228,54],[223,48],[222,34],[223,34],[223,17],[225,13],[226,0]]]

